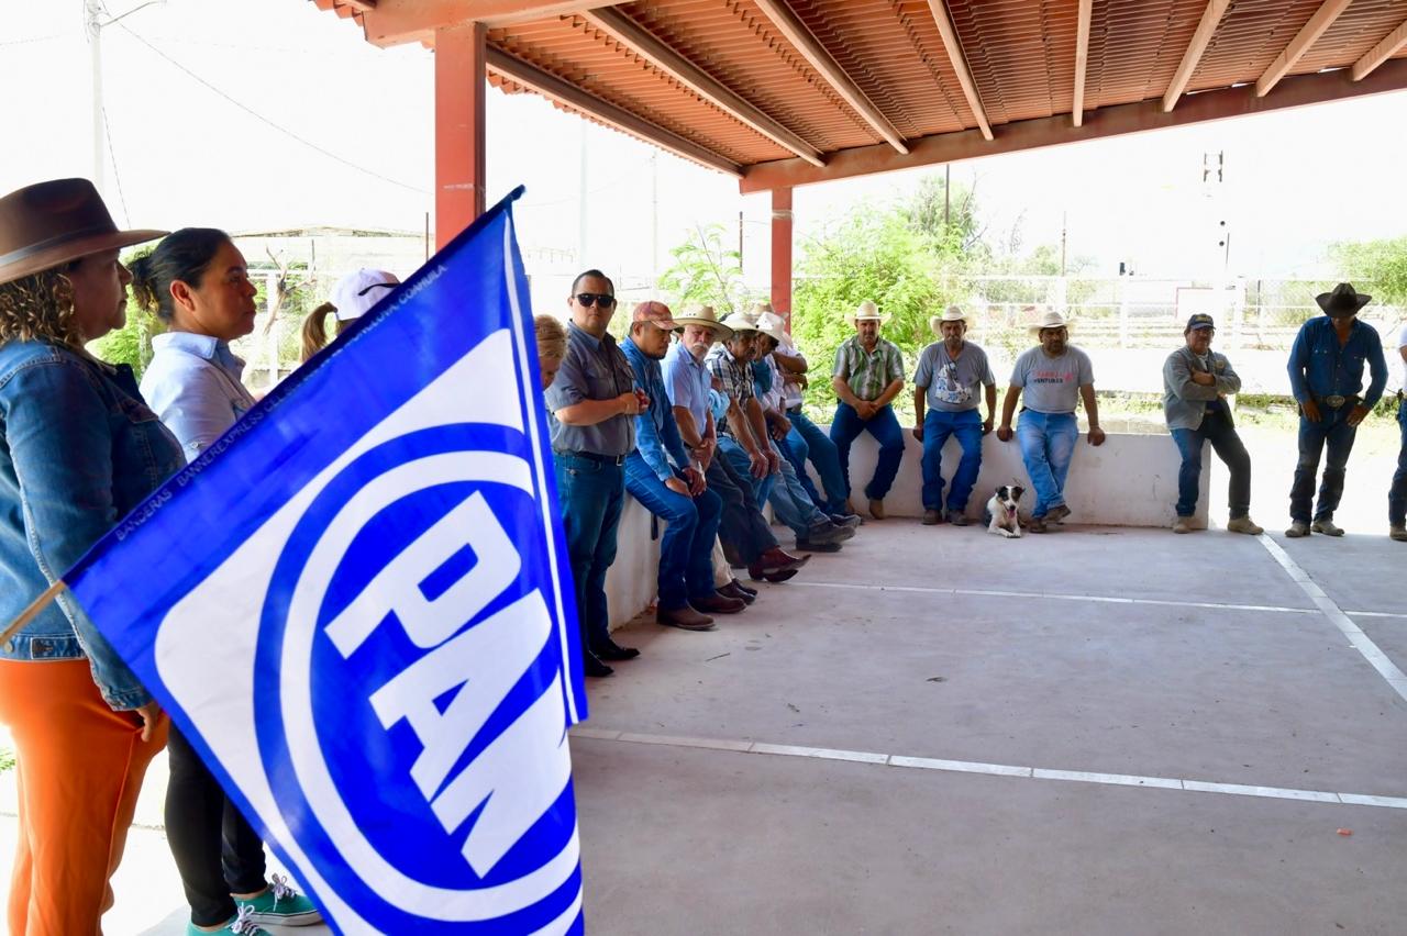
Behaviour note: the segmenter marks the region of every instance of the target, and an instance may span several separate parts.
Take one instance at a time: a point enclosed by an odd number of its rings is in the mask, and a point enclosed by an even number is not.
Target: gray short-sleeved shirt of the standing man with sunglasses
[[[615,399],[635,388],[635,371],[609,334],[597,339],[575,322],[567,323],[567,354],[557,379],[547,388],[547,409],[554,415],[587,399]],[[552,447],[597,455],[635,451],[635,417],[612,416],[595,426],[566,426],[552,420]]]

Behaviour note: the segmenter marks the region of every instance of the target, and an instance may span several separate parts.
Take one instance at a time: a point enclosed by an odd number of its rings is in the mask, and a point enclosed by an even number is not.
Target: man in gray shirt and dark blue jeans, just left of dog
[[[943,523],[943,446],[958,437],[962,458],[948,488],[947,520],[965,527],[967,502],[982,469],[982,436],[996,420],[996,378],[986,351],[965,339],[967,316],[955,305],[929,319],[941,342],[923,349],[913,372],[913,437],[923,443],[923,523]],[[978,392],[985,388],[986,422],[978,416]],[[929,413],[924,416],[923,405]]]

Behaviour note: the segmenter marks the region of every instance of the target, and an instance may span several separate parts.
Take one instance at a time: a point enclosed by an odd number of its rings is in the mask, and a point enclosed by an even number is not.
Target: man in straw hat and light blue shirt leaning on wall
[[[733,332],[718,320],[713,308],[708,305],[677,316],[674,325],[680,327],[680,340],[664,356],[664,391],[670,398],[680,437],[704,465],[709,489],[723,500],[719,538],[747,565],[751,578],[785,582],[796,575],[806,559],[782,552],[758,509],[753,486],[730,461],[718,455],[716,422],[709,409],[713,377],[704,358],[713,342],[732,337]],[[719,592],[743,600],[756,596],[756,592],[737,582],[732,585],[732,589],[725,586]]]

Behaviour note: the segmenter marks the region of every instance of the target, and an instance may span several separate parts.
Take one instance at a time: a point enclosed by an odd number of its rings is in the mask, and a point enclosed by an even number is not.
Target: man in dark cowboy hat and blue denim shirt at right
[[[1373,410],[1387,386],[1387,360],[1377,329],[1358,320],[1358,311],[1372,298],[1358,292],[1351,282],[1339,282],[1332,292],[1314,297],[1324,315],[1301,325],[1290,349],[1290,389],[1300,402],[1300,460],[1290,488],[1287,537],[1307,537],[1311,531],[1344,535],[1344,530],[1334,523],[1334,510],[1344,496],[1348,455],[1354,451],[1358,424]],[[1366,395],[1363,361],[1373,374]],[[1314,478],[1325,446],[1328,464],[1311,521]]]

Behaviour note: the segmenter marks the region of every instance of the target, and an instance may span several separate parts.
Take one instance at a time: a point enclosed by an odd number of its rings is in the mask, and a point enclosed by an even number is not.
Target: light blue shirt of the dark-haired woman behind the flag
[[[142,396],[194,460],[253,408],[245,363],[225,342],[190,332],[158,334],[152,351]]]

